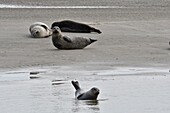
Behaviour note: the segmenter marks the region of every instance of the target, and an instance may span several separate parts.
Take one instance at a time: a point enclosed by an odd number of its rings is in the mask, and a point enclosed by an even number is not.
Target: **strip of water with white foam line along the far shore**
[[[160,0],[2,0],[0,8],[129,8],[169,7]],[[100,7],[98,7],[100,6]]]

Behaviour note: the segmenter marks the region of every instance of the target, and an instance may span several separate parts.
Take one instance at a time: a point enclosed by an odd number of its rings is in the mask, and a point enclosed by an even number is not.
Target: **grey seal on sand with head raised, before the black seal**
[[[52,31],[52,42],[58,49],[83,49],[84,47],[97,41],[95,39],[85,37],[63,36],[59,27],[54,27]]]

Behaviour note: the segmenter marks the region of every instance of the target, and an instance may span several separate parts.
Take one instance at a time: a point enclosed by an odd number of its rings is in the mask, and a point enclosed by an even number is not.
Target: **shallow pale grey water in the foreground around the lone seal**
[[[88,70],[63,66],[1,71],[0,112],[169,113],[169,75],[168,69],[143,67]],[[85,90],[98,87],[98,100],[75,100],[71,85],[75,79]]]

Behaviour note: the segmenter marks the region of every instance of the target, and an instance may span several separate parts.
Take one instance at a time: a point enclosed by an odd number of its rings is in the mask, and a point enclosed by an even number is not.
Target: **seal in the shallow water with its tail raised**
[[[99,95],[99,89],[96,87],[91,88],[89,91],[84,92],[78,83],[78,81],[71,81],[76,89],[75,97],[78,100],[96,100]]]

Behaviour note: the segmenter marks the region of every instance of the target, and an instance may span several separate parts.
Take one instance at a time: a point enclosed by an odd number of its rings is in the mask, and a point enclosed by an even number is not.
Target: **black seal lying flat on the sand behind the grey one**
[[[100,30],[90,27],[89,25],[74,22],[71,20],[64,20],[60,22],[54,22],[51,25],[51,28],[54,28],[55,26],[58,26],[62,32],[77,32],[77,33],[91,33],[91,32],[97,32],[102,33]]]

